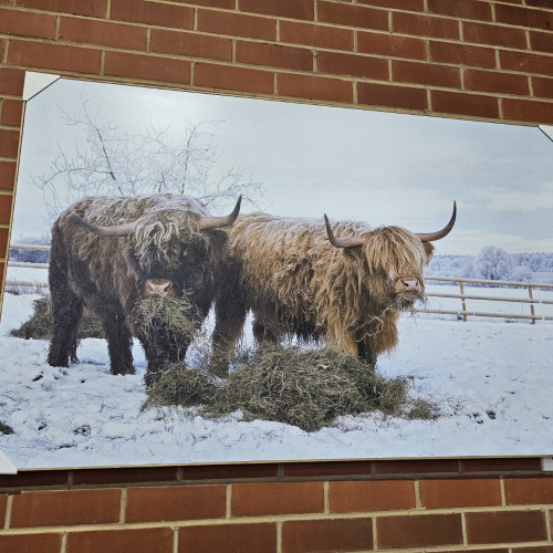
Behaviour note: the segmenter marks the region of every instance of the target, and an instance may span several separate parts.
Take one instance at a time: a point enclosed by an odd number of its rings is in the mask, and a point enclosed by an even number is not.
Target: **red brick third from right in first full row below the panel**
[[[330,482],[331,513],[415,509],[413,480]]]

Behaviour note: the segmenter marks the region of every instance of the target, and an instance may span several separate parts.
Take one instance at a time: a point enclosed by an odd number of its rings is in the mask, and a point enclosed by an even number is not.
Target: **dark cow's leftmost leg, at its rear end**
[[[76,346],[83,303],[64,285],[66,282],[61,284],[51,285],[53,327],[48,363],[53,367],[67,367],[70,361],[79,362]]]

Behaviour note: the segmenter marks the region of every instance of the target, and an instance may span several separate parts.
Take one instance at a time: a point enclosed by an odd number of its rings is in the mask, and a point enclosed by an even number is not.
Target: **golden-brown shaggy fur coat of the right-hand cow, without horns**
[[[372,363],[396,345],[399,311],[424,294],[422,269],[434,246],[399,227],[334,222],[332,229],[337,238],[364,236],[365,241],[334,248],[322,220],[238,218],[228,232],[231,270],[216,305],[216,372],[225,372],[250,309],[258,341],[324,337]],[[394,286],[401,278],[418,279],[421,289],[401,293],[399,303]]]

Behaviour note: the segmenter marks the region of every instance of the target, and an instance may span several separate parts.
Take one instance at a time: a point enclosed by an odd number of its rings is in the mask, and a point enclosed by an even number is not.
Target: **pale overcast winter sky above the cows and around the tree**
[[[61,119],[82,96],[133,133],[225,119],[216,171],[243,167],[262,180],[259,206],[271,213],[429,232],[456,199],[456,228],[437,253],[553,252],[553,143],[538,128],[69,80],[28,102],[12,240],[49,232],[31,176],[59,148],[86,146]]]

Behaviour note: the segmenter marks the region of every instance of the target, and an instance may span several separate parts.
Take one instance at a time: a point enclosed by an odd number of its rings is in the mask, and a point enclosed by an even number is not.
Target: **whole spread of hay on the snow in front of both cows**
[[[312,432],[341,415],[382,411],[407,418],[435,418],[436,409],[408,397],[407,378],[386,379],[357,357],[332,347],[304,351],[263,345],[242,352],[227,379],[205,368],[170,367],[149,388],[143,408],[200,406],[216,418],[241,410],[244,419],[275,420]]]

